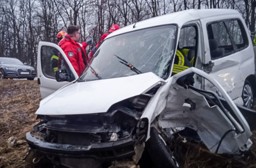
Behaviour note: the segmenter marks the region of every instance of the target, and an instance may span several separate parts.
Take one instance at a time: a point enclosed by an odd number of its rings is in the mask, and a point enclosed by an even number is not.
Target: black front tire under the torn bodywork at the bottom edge
[[[174,155],[156,128],[150,128],[150,139],[146,142],[146,150],[155,168],[178,168]]]

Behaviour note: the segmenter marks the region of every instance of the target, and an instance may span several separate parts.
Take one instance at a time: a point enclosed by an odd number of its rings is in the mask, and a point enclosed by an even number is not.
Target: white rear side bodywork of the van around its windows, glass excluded
[[[248,39],[248,47],[243,49],[242,51],[236,52],[229,56],[225,56],[223,58],[218,58],[216,60],[211,60],[210,57],[210,47],[208,43],[208,34],[206,29],[206,24],[209,22],[214,22],[218,20],[232,19],[236,18],[242,21],[244,28],[247,30],[246,24],[242,16],[237,12],[237,14],[226,14],[223,16],[212,16],[202,18],[202,30],[204,34],[204,46],[205,46],[205,63],[212,61],[214,64],[210,75],[217,80],[220,85],[228,92],[229,96],[232,100],[236,100],[236,103],[239,105],[243,105],[242,101],[242,90],[244,86],[245,79],[254,74],[255,66],[254,66],[254,51],[252,47],[252,41],[250,40],[250,34],[248,31],[247,37]],[[205,83],[205,90],[213,90],[212,84],[209,82]]]

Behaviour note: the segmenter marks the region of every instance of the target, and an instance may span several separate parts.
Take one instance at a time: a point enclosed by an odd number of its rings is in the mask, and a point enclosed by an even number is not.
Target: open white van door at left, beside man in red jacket
[[[56,70],[60,68],[66,69],[68,76],[70,76],[68,81],[56,81]],[[74,67],[63,50],[58,45],[50,42],[39,42],[38,44],[37,74],[43,99],[62,86],[78,79]]]

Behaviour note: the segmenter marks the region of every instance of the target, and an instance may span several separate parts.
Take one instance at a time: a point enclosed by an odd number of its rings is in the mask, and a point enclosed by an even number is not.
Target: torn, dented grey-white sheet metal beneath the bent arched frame
[[[190,98],[196,103],[196,109],[182,106]],[[198,135],[211,152],[215,152],[220,139],[234,126],[218,106],[210,107],[204,96],[181,86],[172,85],[168,94],[167,105],[160,114],[159,124],[162,128],[189,127]],[[239,150],[235,139],[236,132],[230,132],[221,143],[218,153],[236,153]]]

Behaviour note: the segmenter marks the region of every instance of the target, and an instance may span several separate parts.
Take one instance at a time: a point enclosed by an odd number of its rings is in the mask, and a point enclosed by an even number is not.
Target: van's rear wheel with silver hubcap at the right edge
[[[245,80],[245,82],[244,82],[242,99],[244,101],[245,107],[252,108],[254,93],[253,93],[252,85],[250,84],[250,82],[248,80]]]

